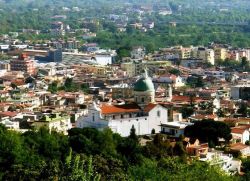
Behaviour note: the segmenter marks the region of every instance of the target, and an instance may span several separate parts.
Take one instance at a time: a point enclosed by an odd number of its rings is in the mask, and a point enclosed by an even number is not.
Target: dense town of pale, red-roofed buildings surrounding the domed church
[[[224,122],[231,127],[230,154],[187,137],[186,150],[202,161],[218,157],[225,171],[240,173],[231,154],[250,155],[250,73],[215,64],[245,60],[247,66],[250,49],[214,44],[147,54],[139,46],[117,61],[115,50],[97,44],[73,46],[74,53],[53,45],[1,46],[3,57],[11,57],[0,62],[0,121],[8,129],[110,128],[126,137],[134,127],[139,136],[163,133],[174,141],[196,121]],[[85,51],[73,49],[80,46]]]

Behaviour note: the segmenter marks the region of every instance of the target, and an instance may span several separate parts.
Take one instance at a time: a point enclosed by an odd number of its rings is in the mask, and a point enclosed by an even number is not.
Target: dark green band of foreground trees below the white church
[[[110,129],[46,128],[19,134],[0,125],[0,180],[233,180],[217,167],[188,161],[182,142],[156,134],[146,146],[135,130],[122,138]],[[69,151],[70,150],[70,151]],[[247,162],[245,162],[247,170]]]

